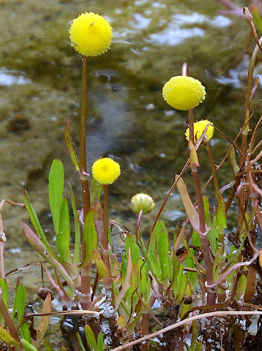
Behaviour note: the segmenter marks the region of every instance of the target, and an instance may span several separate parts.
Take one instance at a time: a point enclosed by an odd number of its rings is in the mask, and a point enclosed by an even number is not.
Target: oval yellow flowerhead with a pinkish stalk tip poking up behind
[[[164,100],[177,110],[190,110],[205,100],[205,87],[199,80],[176,75],[169,79],[163,87]]]

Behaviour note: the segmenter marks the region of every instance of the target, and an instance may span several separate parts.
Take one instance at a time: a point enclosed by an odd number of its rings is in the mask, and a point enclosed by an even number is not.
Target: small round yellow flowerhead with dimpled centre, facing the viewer
[[[120,165],[112,158],[99,158],[93,163],[92,173],[98,183],[109,185],[120,176]]]

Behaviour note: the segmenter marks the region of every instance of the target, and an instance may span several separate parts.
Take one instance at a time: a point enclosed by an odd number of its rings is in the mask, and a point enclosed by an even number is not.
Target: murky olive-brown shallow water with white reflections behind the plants
[[[188,157],[184,138],[186,112],[173,110],[161,91],[172,75],[181,74],[184,61],[190,74],[206,87],[195,119],[210,119],[230,138],[242,125],[248,55],[249,26],[245,19],[221,14],[215,1],[0,1],[0,187],[1,198],[22,202],[26,187],[42,227],[51,243],[53,230],[48,208],[48,172],[54,158],[63,161],[78,208],[78,174],[63,141],[66,118],[78,149],[80,112],[80,56],[70,46],[68,28],[84,11],[103,14],[113,27],[110,50],[89,59],[87,158],[89,169],[101,155],[121,164],[122,174],[109,188],[110,218],[135,228],[130,199],[149,193],[156,206],[142,221],[145,234]],[[252,50],[254,42],[249,45]],[[262,72],[256,68],[256,75]],[[259,100],[260,88],[255,102]],[[258,108],[255,120],[261,108]],[[252,122],[251,122],[252,124]],[[261,136],[261,135],[260,135]],[[218,164],[229,147],[215,132],[212,151]],[[199,151],[202,184],[209,178],[204,148]],[[233,178],[229,161],[218,173],[220,185]],[[184,180],[194,199],[190,172]],[[207,189],[210,195],[212,188]],[[67,189],[65,193],[68,196]],[[213,198],[214,199],[214,198]],[[173,192],[161,219],[170,233],[183,221],[181,201]],[[38,260],[26,243],[22,208],[4,205],[7,236],[6,271]],[[229,215],[229,229],[235,218]],[[39,267],[19,276],[31,299],[41,285]],[[32,294],[32,295],[31,295]]]

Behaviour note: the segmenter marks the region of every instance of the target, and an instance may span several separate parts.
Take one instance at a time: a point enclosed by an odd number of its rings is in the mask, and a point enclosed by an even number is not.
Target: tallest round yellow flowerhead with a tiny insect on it
[[[73,48],[84,56],[97,56],[106,52],[113,36],[109,22],[93,12],[82,13],[73,19],[69,35]]]

